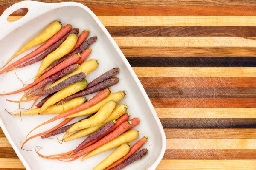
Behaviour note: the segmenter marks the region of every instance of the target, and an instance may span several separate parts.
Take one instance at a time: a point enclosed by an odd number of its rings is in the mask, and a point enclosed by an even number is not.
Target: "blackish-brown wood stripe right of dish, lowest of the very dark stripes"
[[[256,128],[256,119],[160,118],[164,128]]]

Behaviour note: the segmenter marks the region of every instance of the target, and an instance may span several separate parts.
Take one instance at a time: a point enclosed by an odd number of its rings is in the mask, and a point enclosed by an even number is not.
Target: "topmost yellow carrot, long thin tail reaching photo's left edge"
[[[50,39],[54,34],[56,34],[58,31],[61,30],[61,22],[59,21],[54,21],[51,23],[41,34],[39,34],[37,37],[33,38],[29,42],[27,42],[23,47],[19,49],[7,62],[6,64],[1,67],[0,69],[4,68],[12,59],[17,57],[19,54],[23,53],[24,51],[28,50],[29,48],[32,48],[38,44],[41,44],[42,42],[47,41]],[[53,40],[51,40],[53,41]],[[38,53],[39,54],[39,53]]]

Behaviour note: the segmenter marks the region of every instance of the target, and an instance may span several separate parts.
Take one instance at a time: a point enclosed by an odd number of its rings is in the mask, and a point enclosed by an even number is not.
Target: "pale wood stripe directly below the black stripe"
[[[134,67],[138,77],[256,77],[256,68]]]

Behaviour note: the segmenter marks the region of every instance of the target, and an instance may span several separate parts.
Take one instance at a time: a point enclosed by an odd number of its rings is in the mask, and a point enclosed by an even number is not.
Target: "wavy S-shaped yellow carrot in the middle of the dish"
[[[72,132],[101,124],[102,122],[104,122],[105,119],[108,118],[108,116],[110,116],[115,107],[115,99],[107,102],[105,105],[102,106],[102,108],[99,109],[99,111],[93,117],[76,123],[75,125],[70,127],[70,129],[67,130],[67,132],[64,134],[62,140],[64,140]]]

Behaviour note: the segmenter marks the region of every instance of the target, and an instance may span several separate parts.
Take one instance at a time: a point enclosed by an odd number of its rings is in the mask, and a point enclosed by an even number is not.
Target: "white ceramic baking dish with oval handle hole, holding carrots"
[[[9,23],[6,20],[7,17],[13,11],[20,8],[28,8],[29,11],[20,20]],[[136,129],[140,131],[139,138],[143,136],[149,137],[148,142],[144,146],[148,148],[149,154],[142,160],[126,167],[126,170],[156,169],[157,165],[163,158],[166,149],[166,137],[160,120],[158,119],[143,86],[131,68],[131,65],[122,54],[122,51],[116,45],[111,35],[96,15],[93,14],[93,12],[86,6],[73,2],[41,3],[23,1],[9,7],[0,17],[0,65],[2,66],[3,63],[5,63],[7,59],[11,57],[27,40],[35,37],[36,34],[41,32],[54,20],[61,21],[63,26],[70,23],[74,27],[78,27],[80,32],[83,29],[89,29],[89,37],[95,35],[98,36],[97,42],[91,47],[93,51],[89,59],[95,58],[99,60],[99,67],[96,71],[93,71],[87,76],[88,82],[111,68],[120,68],[120,73],[118,75],[120,82],[113,86],[111,90],[113,92],[121,90],[125,90],[127,92],[125,99],[119,103],[126,103],[129,105],[128,112],[131,114],[131,118],[139,117],[141,119],[140,125],[136,127]],[[24,52],[18,56],[15,61],[35,48]],[[35,76],[39,65],[40,63],[36,63],[26,68],[20,68],[17,70],[17,74],[24,81],[29,80]],[[15,76],[14,71],[0,76],[0,90],[10,92],[21,87],[23,87],[23,85]],[[21,150],[20,142],[24,141],[27,133],[36,125],[39,125],[53,117],[52,115],[33,117],[23,116],[22,122],[20,122],[20,116],[11,116],[4,111],[4,109],[9,111],[15,111],[17,109],[17,104],[6,102],[5,99],[18,100],[22,95],[23,93],[19,93],[0,97],[0,126],[27,170],[68,170],[69,168],[71,170],[90,170],[113,151],[109,150],[82,162],[76,160],[67,164],[61,161],[42,159],[37,156],[35,152]],[[92,95],[87,96],[89,99],[91,97]],[[31,102],[23,104],[22,107],[29,108],[30,105]],[[76,118],[73,122],[78,119],[79,118]],[[47,125],[46,127],[41,127],[33,132],[33,134],[48,130],[53,126],[55,126],[55,123]],[[59,137],[61,138],[62,135],[63,134],[59,135]],[[29,141],[25,145],[24,149],[32,150],[35,146],[42,146],[43,149],[40,150],[40,153],[44,155],[63,153],[76,147],[82,140],[83,139],[78,139],[65,142],[60,145],[55,140],[41,139],[38,137]],[[134,143],[135,141],[131,144]]]

